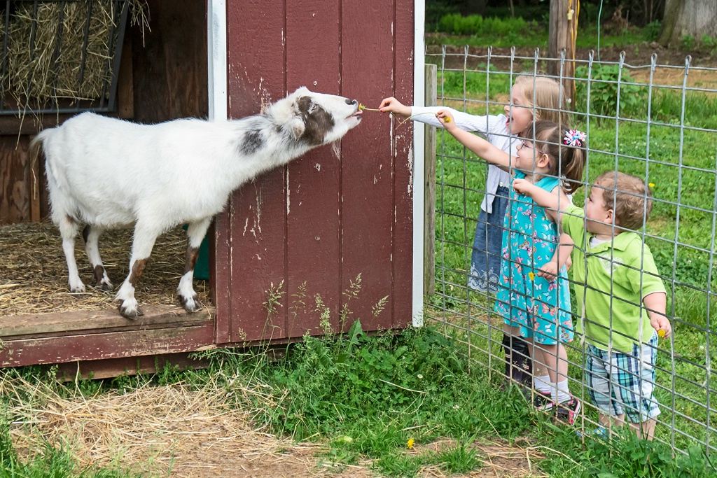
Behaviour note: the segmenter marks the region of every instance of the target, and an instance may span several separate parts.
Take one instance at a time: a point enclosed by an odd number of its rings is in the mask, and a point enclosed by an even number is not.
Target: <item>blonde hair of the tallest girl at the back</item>
[[[563,85],[549,77],[521,75],[513,85],[523,87],[528,106],[533,107],[533,121],[548,120],[570,129],[570,118]]]

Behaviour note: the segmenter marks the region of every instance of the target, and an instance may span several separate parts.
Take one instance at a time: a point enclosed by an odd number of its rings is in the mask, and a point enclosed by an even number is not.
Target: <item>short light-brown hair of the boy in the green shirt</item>
[[[652,211],[652,191],[645,181],[631,174],[606,171],[597,176],[595,186],[604,189],[604,208],[612,209],[616,226],[633,231],[642,229]]]

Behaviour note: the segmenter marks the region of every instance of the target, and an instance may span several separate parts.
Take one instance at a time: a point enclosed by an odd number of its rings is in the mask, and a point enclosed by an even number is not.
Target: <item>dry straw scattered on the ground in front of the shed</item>
[[[0,389],[12,393],[16,386],[37,388],[34,396],[42,397],[44,403],[16,406],[11,411],[11,436],[23,458],[41,450],[47,439],[65,444],[82,467],[120,466],[151,476],[377,476],[371,462],[349,466],[326,462],[321,457],[325,444],[295,443],[257,429],[252,412],[226,406],[227,394],[219,387],[197,391],[181,384],[146,386],[90,399],[61,398],[42,384],[4,382]],[[440,451],[455,445],[449,440],[416,444],[406,453]],[[544,476],[536,471],[541,456],[529,444],[509,446],[496,440],[476,448],[483,467],[463,477]],[[446,473],[440,467],[426,467],[418,476],[444,477]]]

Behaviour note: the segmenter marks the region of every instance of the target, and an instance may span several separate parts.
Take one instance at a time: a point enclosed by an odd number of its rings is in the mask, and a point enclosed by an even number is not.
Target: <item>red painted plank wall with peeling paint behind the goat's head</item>
[[[228,0],[229,115],[256,114],[296,87],[356,98],[413,97],[413,1]],[[315,295],[336,324],[361,274],[353,317],[379,330],[411,320],[412,129],[375,112],[341,157],[311,151],[234,193],[217,219],[219,343],[319,334]],[[300,300],[305,283],[305,297]],[[280,286],[267,321],[267,291]],[[374,319],[371,305],[388,296]],[[300,305],[300,302],[304,305]]]

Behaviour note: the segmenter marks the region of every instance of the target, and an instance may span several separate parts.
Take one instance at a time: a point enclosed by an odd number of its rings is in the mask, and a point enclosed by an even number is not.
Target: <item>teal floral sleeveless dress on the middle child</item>
[[[516,178],[525,178],[516,171]],[[536,186],[553,191],[558,178],[542,178]],[[495,311],[506,324],[519,327],[521,336],[536,343],[571,342],[574,330],[570,291],[565,268],[559,279],[549,282],[538,270],[553,259],[559,241],[556,224],[528,196],[511,188],[511,204],[505,214],[503,261]],[[559,305],[559,307],[556,307]]]

